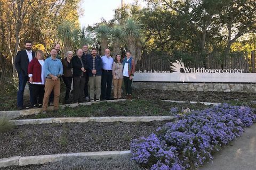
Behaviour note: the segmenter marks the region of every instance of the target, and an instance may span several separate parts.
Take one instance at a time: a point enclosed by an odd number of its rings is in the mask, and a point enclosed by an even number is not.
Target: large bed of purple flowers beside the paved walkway
[[[132,160],[151,170],[197,169],[256,122],[253,112],[247,106],[222,104],[179,116],[156,134],[132,140]]]

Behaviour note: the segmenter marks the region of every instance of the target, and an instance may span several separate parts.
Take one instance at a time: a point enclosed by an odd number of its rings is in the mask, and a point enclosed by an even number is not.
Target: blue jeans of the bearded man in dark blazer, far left
[[[24,90],[26,83],[28,82],[28,77],[24,77],[21,74],[19,74],[19,90],[17,93],[17,106],[18,107],[23,107],[23,95],[24,95]],[[32,97],[32,90],[29,89],[29,99],[30,103],[33,103],[33,97]]]

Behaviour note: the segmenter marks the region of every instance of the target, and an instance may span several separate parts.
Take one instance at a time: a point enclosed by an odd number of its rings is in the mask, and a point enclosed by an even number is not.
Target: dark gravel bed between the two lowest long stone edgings
[[[149,135],[163,122],[23,125],[0,133],[0,158],[69,152],[129,150],[131,139]]]

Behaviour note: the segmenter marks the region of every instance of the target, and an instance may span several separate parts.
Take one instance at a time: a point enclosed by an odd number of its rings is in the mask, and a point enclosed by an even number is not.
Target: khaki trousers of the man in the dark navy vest
[[[89,88],[91,100],[94,100],[94,95],[96,95],[96,99],[100,99],[101,76],[89,77]]]

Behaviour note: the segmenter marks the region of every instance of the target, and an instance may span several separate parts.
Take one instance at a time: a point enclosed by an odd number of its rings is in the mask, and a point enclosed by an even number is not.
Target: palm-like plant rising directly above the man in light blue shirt
[[[108,25],[102,24],[95,29],[95,32],[97,33],[97,37],[101,42],[100,49],[101,49],[101,55],[102,55],[104,50],[108,48],[108,37],[110,33],[110,28],[108,27]]]

